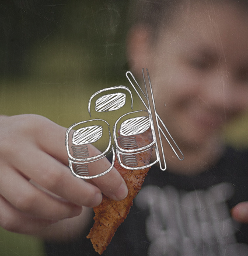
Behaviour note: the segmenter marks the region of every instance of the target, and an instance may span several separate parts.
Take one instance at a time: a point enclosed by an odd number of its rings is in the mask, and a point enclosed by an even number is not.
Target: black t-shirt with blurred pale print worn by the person
[[[248,225],[230,217],[243,201],[248,201],[248,151],[228,148],[216,165],[195,176],[153,166],[103,255],[248,255]],[[88,233],[70,243],[46,243],[47,255],[99,255]]]

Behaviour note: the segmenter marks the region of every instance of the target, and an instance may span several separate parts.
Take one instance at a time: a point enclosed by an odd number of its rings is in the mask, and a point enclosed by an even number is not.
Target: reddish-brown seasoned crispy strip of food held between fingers
[[[118,138],[118,140],[120,137]],[[151,129],[135,136],[138,148],[148,145],[152,142]],[[119,144],[120,145],[120,144]],[[148,165],[151,159],[152,151],[145,151],[137,156],[137,165]],[[127,217],[132,206],[132,200],[137,196],[150,168],[141,170],[128,170],[120,166],[117,158],[114,161],[114,167],[120,172],[127,183],[128,195],[124,200],[115,201],[103,195],[102,203],[93,207],[95,211],[95,223],[90,230],[87,238],[90,238],[96,252],[102,254],[109,245],[111,239],[116,233],[117,228]]]

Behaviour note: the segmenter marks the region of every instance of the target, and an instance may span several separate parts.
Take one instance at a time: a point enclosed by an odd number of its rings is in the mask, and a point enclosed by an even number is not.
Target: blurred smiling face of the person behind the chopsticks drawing
[[[201,144],[248,107],[248,18],[235,6],[199,4],[176,20],[141,65],[177,142]]]

